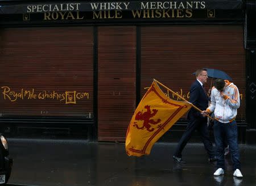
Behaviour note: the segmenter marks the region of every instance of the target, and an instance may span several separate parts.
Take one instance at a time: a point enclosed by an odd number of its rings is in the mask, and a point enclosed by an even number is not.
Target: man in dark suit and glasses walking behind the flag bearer
[[[204,90],[204,84],[207,82],[208,74],[205,69],[196,70],[196,81],[192,83],[190,89],[189,102],[199,108],[201,111],[205,111],[208,107],[208,96]],[[201,140],[204,143],[205,150],[207,150],[209,156],[209,162],[216,161],[215,153],[213,151],[212,142],[209,139],[209,131],[207,128],[207,117],[204,117],[202,113],[197,111],[195,108],[191,108],[188,112],[188,125],[181,137],[175,153],[172,158],[174,158],[177,163],[185,163],[181,158],[182,150],[192,136],[192,133],[197,130],[200,134]]]

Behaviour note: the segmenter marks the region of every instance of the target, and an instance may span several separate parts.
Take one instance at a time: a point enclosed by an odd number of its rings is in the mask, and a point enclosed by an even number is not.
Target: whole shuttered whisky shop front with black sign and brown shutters
[[[2,1],[2,126],[14,135],[124,141],[153,78],[188,99],[192,73],[209,67],[240,89],[240,142],[253,142],[255,54],[245,42],[245,4]],[[185,125],[184,116],[163,140],[179,138]]]

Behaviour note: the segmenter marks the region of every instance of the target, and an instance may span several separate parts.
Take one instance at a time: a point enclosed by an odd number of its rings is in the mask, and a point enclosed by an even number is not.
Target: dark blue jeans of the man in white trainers
[[[222,123],[214,120],[214,138],[216,143],[217,168],[225,169],[224,148],[225,138],[228,141],[229,150],[233,162],[233,170],[241,170],[240,155],[237,143],[237,122],[234,120]]]

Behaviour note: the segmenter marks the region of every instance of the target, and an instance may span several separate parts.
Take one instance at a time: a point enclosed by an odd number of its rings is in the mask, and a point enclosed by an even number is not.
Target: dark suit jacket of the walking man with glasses
[[[208,107],[208,96],[201,86],[201,84],[196,80],[192,83],[190,88],[190,97],[189,102],[195,105],[197,108],[201,109],[201,111],[205,111]],[[197,111],[195,108],[191,108],[188,112],[188,119],[203,117],[201,113]]]

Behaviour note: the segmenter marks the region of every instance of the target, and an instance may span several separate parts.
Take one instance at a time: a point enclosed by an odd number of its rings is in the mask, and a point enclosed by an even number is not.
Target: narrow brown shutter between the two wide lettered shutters
[[[98,28],[98,140],[124,141],[135,109],[135,27]]]

